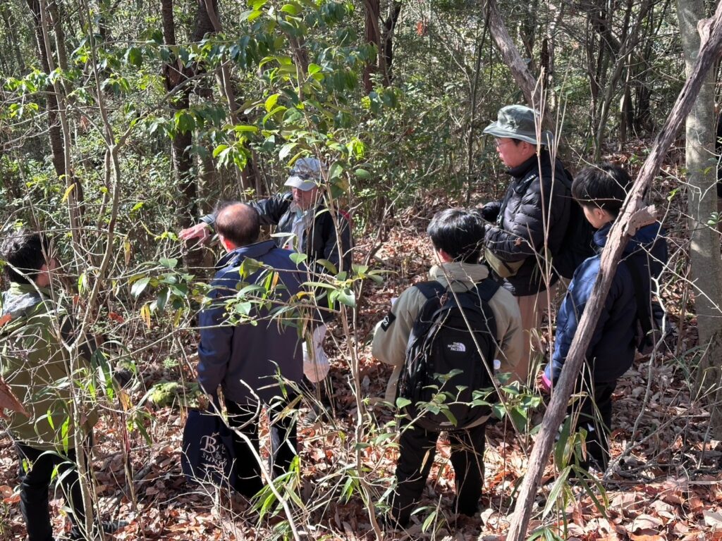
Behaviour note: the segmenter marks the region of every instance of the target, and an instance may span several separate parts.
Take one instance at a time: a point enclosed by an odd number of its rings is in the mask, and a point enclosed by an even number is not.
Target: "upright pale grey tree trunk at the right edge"
[[[677,0],[687,74],[692,71],[700,53],[697,22],[704,14],[703,0]],[[710,71],[687,117],[685,134],[690,264],[694,278],[699,346],[705,352],[697,372],[697,385],[700,392],[713,402],[722,381],[722,348],[720,340],[715,339],[722,333],[722,260],[719,234],[716,227],[708,225],[713,212],[717,211],[717,171],[709,165],[709,158],[715,153],[715,130],[712,129],[716,125],[714,84],[714,76]],[[722,423],[718,415],[718,408],[714,407],[713,428],[720,432]]]

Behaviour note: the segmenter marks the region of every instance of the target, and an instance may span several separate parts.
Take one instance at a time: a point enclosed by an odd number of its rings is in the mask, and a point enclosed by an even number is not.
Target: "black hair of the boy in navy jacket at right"
[[[572,197],[581,206],[601,208],[619,216],[632,185],[629,173],[613,164],[585,167],[572,182]]]

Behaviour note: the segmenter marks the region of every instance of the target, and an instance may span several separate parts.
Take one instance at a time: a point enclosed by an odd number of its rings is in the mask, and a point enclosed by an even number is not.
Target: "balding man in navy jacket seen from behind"
[[[261,217],[248,204],[235,203],[223,208],[215,226],[227,253],[217,265],[219,270],[208,294],[209,304],[199,315],[198,381],[214,403],[217,403],[218,387],[222,387],[229,425],[250,441],[251,447],[234,433],[238,478],[235,488],[251,497],[263,487],[256,454],[259,419],[264,405],[271,412],[274,474],[285,472],[296,455],[295,421],[292,415],[282,412],[294,395],[293,384],[301,381],[303,359],[297,329],[286,325],[287,320],[279,320],[277,312],[287,307],[292,297],[301,291],[306,269],[303,263],[297,265],[292,261],[293,252],[277,247],[274,241],[258,242]],[[250,260],[263,267],[246,269],[244,264]],[[275,273],[272,281],[277,280],[274,291],[260,294],[258,304],[245,310],[246,315],[254,317],[253,324],[229,320],[234,309],[227,309],[226,303],[241,288],[263,284],[269,273]],[[245,303],[246,299],[238,302]],[[241,312],[235,309],[235,313]]]

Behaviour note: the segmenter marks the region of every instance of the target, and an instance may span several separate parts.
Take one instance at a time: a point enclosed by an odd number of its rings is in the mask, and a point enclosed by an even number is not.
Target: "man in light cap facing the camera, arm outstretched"
[[[306,255],[308,268],[314,273],[326,273],[321,263],[328,261],[336,271],[350,271],[352,264],[351,224],[347,216],[332,214],[323,201],[320,185],[324,167],[316,158],[297,159],[285,185],[290,193],[251,201],[261,216],[261,225],[276,227],[281,235],[279,245]],[[209,238],[215,224],[216,214],[201,218],[201,222],[178,234],[181,239]],[[318,289],[317,295],[325,294]],[[304,343],[304,374],[311,383],[321,381],[329,371],[329,360],[323,351],[326,322],[331,319],[329,310],[319,312],[318,324],[313,326],[310,345]]]

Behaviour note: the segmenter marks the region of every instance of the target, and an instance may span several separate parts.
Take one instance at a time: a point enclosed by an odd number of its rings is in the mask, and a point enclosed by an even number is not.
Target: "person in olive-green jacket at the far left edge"
[[[48,491],[53,480],[71,509],[70,539],[86,539],[86,512],[76,467],[75,433],[90,444],[97,413],[81,405],[77,379],[91,371],[91,348],[77,344],[79,355],[67,351],[76,337],[66,308],[56,302],[51,288],[58,260],[48,237],[22,229],[4,239],[0,257],[5,261],[9,289],[2,296],[0,316],[0,371],[28,415],[10,413],[6,425],[19,462],[20,511],[30,541],[52,541]],[[59,333],[58,333],[59,330]],[[77,425],[77,419],[84,419]],[[87,457],[86,457],[87,459]],[[110,533],[122,522],[103,522]],[[97,527],[96,527],[97,528]]]

